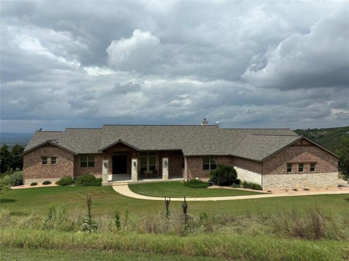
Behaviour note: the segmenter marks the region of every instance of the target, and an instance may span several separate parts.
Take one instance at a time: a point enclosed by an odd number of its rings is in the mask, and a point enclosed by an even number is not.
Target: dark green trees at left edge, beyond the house
[[[18,144],[13,145],[11,149],[6,144],[0,148],[0,173],[4,173],[9,169],[23,169],[23,156],[19,156],[24,147]]]

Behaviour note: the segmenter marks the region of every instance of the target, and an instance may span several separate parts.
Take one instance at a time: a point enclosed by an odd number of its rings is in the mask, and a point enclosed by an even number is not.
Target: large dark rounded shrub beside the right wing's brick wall
[[[218,164],[214,171],[210,172],[210,181],[219,186],[230,186],[236,183],[237,173],[234,167]]]

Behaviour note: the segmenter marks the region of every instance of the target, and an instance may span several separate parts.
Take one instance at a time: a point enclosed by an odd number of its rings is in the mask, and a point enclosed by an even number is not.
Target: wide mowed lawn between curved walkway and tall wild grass
[[[120,195],[106,187],[46,187],[13,189],[0,193],[0,207],[12,215],[46,215],[50,204],[65,204],[68,210],[86,208],[86,196],[91,194],[94,215],[113,215],[116,206],[128,207],[132,215],[148,215],[164,211],[164,202],[141,200]],[[260,199],[188,201],[189,214],[234,213],[236,215],[273,214],[296,207],[299,211],[319,207],[333,213],[348,215],[349,194],[275,197]],[[181,209],[180,201],[171,201],[171,209]]]

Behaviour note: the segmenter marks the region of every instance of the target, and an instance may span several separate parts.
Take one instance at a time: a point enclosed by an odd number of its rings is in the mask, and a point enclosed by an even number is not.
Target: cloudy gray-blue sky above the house
[[[1,1],[1,131],[349,125],[348,6]]]

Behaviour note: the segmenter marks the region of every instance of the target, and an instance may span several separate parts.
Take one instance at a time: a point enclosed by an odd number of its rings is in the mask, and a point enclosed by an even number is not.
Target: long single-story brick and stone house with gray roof
[[[206,180],[217,164],[263,190],[337,187],[338,156],[291,129],[103,125],[37,131],[23,152],[25,184],[64,175],[117,181]]]

